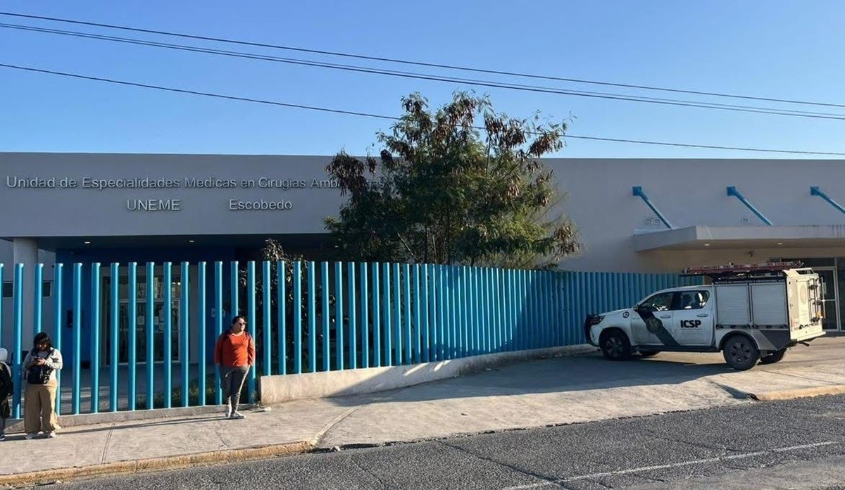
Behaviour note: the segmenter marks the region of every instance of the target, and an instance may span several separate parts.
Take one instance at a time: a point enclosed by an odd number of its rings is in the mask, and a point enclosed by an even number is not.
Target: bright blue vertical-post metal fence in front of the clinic
[[[11,325],[4,324],[0,309],[0,340],[12,338],[16,379],[21,379],[22,354],[30,346],[23,337],[27,280],[35,286],[32,333],[50,333],[68,361],[65,376],[59,377],[60,414],[220,404],[213,346],[236,313],[247,315],[256,342],[257,366],[247,389],[254,400],[257,374],[384,367],[582,344],[586,314],[630,307],[652,291],[700,282],[678,275],[434,264],[263,262],[256,269],[255,262],[232,262],[228,268],[216,262],[210,273],[209,265],[148,263],[139,277],[136,263],[102,269],[101,264],[72,264],[66,277],[65,266],[56,264],[53,315],[43,318],[43,266],[26,271],[15,264],[13,318]],[[69,291],[63,287],[66,280]],[[15,385],[15,417],[20,415],[20,385]]]

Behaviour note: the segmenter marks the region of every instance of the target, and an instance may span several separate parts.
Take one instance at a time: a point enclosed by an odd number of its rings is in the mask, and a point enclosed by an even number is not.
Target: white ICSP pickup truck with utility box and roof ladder
[[[698,268],[690,274],[709,275],[711,284],[657,291],[633,308],[588,315],[586,340],[613,361],[635,351],[722,351],[739,370],[778,362],[789,347],[825,335],[824,303],[819,275],[774,265]]]

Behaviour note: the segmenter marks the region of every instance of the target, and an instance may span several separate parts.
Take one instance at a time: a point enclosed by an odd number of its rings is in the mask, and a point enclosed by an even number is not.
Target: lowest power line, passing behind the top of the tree
[[[53,70],[46,70],[41,68],[31,68],[31,67],[22,67],[18,65],[0,63],[0,68],[12,68],[16,70],[24,70],[27,72],[33,73],[46,73],[52,75],[59,75],[63,77],[69,77],[74,79],[85,79],[97,82],[105,82],[109,84],[120,84],[120,85],[128,85],[133,87],[139,87],[144,89],[152,89],[152,90],[163,90],[167,92],[175,92],[179,94],[188,94],[188,95],[202,95],[205,97],[214,97],[217,99],[226,99],[230,101],[243,101],[243,102],[253,102],[257,104],[265,104],[270,106],[283,106],[283,107],[293,107],[297,109],[306,109],[308,111],[319,111],[319,112],[331,112],[336,114],[346,114],[349,116],[359,116],[359,117],[373,117],[377,119],[387,119],[390,121],[401,121],[401,117],[395,116],[385,116],[383,114],[373,114],[371,112],[357,112],[357,111],[345,111],[341,109],[331,109],[328,107],[319,107],[319,106],[306,106],[303,104],[291,104],[287,102],[278,102],[278,101],[267,101],[264,99],[254,99],[251,97],[239,97],[236,95],[224,95],[224,94],[215,94],[211,92],[201,92],[199,90],[187,90],[187,89],[177,89],[173,87],[165,87],[161,85],[153,85],[153,84],[141,84],[137,82],[128,82],[125,80],[117,80],[117,79],[106,79],[103,77],[93,77],[88,75],[81,75],[78,73],[67,73],[67,72],[58,72]],[[483,128],[477,128],[483,129]],[[698,149],[706,149],[706,150],[737,150],[737,151],[757,151],[757,152],[764,152],[764,153],[782,153],[782,154],[795,154],[795,155],[837,155],[837,156],[845,156],[845,153],[837,153],[832,151],[804,151],[804,150],[770,150],[770,149],[760,149],[760,148],[749,148],[749,147],[741,147],[741,146],[718,146],[713,144],[685,144],[685,143],[668,143],[662,141],[648,141],[642,139],[618,139],[618,138],[602,138],[597,136],[579,136],[575,134],[564,134],[564,138],[572,138],[572,139],[588,139],[594,141],[608,141],[614,143],[632,143],[632,144],[652,144],[652,145],[660,145],[660,146],[675,146],[675,147],[683,147],[683,148],[698,148]]]

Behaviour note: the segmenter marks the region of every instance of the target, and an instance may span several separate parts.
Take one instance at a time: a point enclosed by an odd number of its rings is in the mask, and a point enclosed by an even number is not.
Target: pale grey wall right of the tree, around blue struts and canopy
[[[631,193],[641,186],[673,226],[750,226],[763,223],[735,197],[740,193],[776,226],[845,223],[845,215],[823,199],[810,196],[819,186],[831,199],[845,203],[845,161],[677,160],[677,159],[553,159],[560,188],[568,194],[564,210],[581,230],[585,251],[567,260],[568,270],[677,271],[695,263],[757,262],[772,257],[845,256],[838,249],[777,249],[636,253],[632,236],[655,217],[642,199]],[[662,225],[651,226],[655,231]]]

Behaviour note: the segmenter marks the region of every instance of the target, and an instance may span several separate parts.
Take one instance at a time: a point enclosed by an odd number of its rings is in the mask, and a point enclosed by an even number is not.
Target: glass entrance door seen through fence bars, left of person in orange
[[[129,362],[129,295],[128,295],[128,277],[121,277],[118,286],[118,302],[117,302],[117,362],[120,364],[127,364]],[[165,302],[162,291],[161,277],[155,278],[153,285],[154,297],[153,302],[153,317],[147,318],[147,302],[146,297],[146,279],[139,277],[137,282],[138,301],[135,307],[135,362],[147,362],[147,337],[152,329],[153,336],[153,362],[163,362],[165,359],[164,338],[165,338]],[[179,329],[179,320],[181,318],[181,305],[179,298],[182,294],[182,283],[178,277],[174,277],[171,283],[172,304],[171,304],[171,361],[176,362],[180,359],[181,352]],[[104,277],[102,280],[103,298],[107,298],[102,306],[102,329],[101,339],[104,339],[101,345],[101,358],[103,364],[108,365],[111,362],[112,352],[112,327],[111,327],[111,278]]]

